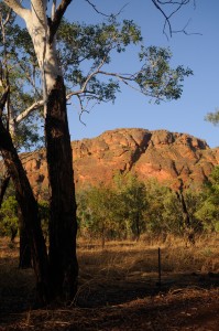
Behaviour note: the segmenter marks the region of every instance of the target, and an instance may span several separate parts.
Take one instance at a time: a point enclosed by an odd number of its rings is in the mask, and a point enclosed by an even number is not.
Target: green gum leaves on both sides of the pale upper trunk
[[[1,2],[3,19],[9,13]],[[8,24],[1,24],[0,56],[7,61],[13,117],[42,99],[41,72],[26,29],[17,24],[11,14]],[[140,28],[132,20],[118,22],[116,17],[99,24],[63,20],[57,31],[57,52],[63,68],[68,97],[77,96],[75,104],[81,113],[101,102],[114,102],[121,84],[129,85],[151,97],[155,103],[180,97],[184,77],[191,71],[171,67],[172,54],[163,47],[144,47]],[[136,46],[140,65],[135,73],[108,71],[116,53]],[[141,51],[140,51],[141,50]],[[6,83],[6,82],[4,82]],[[42,109],[32,111],[19,125],[14,141],[18,148],[41,145]],[[6,122],[9,120],[6,115]],[[39,147],[39,146],[37,146]]]

